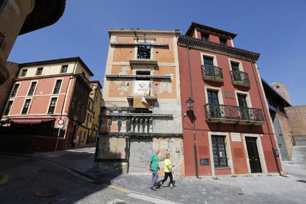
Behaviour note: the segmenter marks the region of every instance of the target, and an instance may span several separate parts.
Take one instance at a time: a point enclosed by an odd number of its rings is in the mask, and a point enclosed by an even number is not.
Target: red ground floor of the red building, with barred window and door
[[[186,176],[195,176],[196,168],[200,177],[278,173],[268,134],[204,131],[196,144],[197,167],[194,140],[184,137]]]

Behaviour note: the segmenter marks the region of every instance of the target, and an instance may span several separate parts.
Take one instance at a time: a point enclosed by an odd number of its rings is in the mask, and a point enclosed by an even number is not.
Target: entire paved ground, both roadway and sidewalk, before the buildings
[[[93,173],[97,176],[97,172],[90,171],[93,153],[94,148],[85,147],[58,153],[36,153],[31,156],[48,159],[71,169],[75,169],[78,163],[77,171]],[[71,159],[73,156],[75,159]],[[88,165],[87,168],[83,164]],[[155,192],[148,188],[150,176],[98,174],[112,181],[113,185],[106,187],[78,178],[72,171],[67,171],[48,161],[0,156],[0,173],[9,176],[8,181],[0,185],[0,198],[5,198],[4,204],[107,204],[115,199],[126,201],[129,204],[171,204],[163,199],[181,204],[203,204],[205,202],[207,204],[304,204],[306,183],[297,180],[306,178],[305,164],[293,160],[283,162],[283,166],[288,172],[288,177],[220,177],[217,180],[174,178],[177,186],[175,191],[165,186]],[[114,186],[128,191],[112,188]],[[47,187],[54,187],[61,191],[61,194],[52,198],[39,198],[34,195],[37,190]],[[237,193],[244,195],[237,195]]]

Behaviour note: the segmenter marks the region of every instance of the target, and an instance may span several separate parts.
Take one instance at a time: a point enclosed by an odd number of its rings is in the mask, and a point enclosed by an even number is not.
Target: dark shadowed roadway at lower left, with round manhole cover
[[[46,161],[0,155],[0,173],[8,175],[0,184],[0,204],[112,204],[115,199],[153,204],[146,201],[153,198],[91,183]],[[35,196],[36,191],[51,187],[61,193],[51,198]]]

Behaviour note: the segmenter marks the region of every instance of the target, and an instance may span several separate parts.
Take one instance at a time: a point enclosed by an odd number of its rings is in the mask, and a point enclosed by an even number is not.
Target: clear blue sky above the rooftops
[[[17,38],[9,61],[80,56],[102,82],[107,29],[180,29],[190,23],[238,33],[237,48],[259,52],[261,77],[282,81],[294,105],[306,104],[306,0],[67,0],[62,18]]]

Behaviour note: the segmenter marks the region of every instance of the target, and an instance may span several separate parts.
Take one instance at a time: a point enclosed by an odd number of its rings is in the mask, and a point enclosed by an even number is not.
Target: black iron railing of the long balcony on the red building
[[[206,119],[221,118],[265,122],[261,109],[257,108],[207,103],[204,105],[204,109]]]

